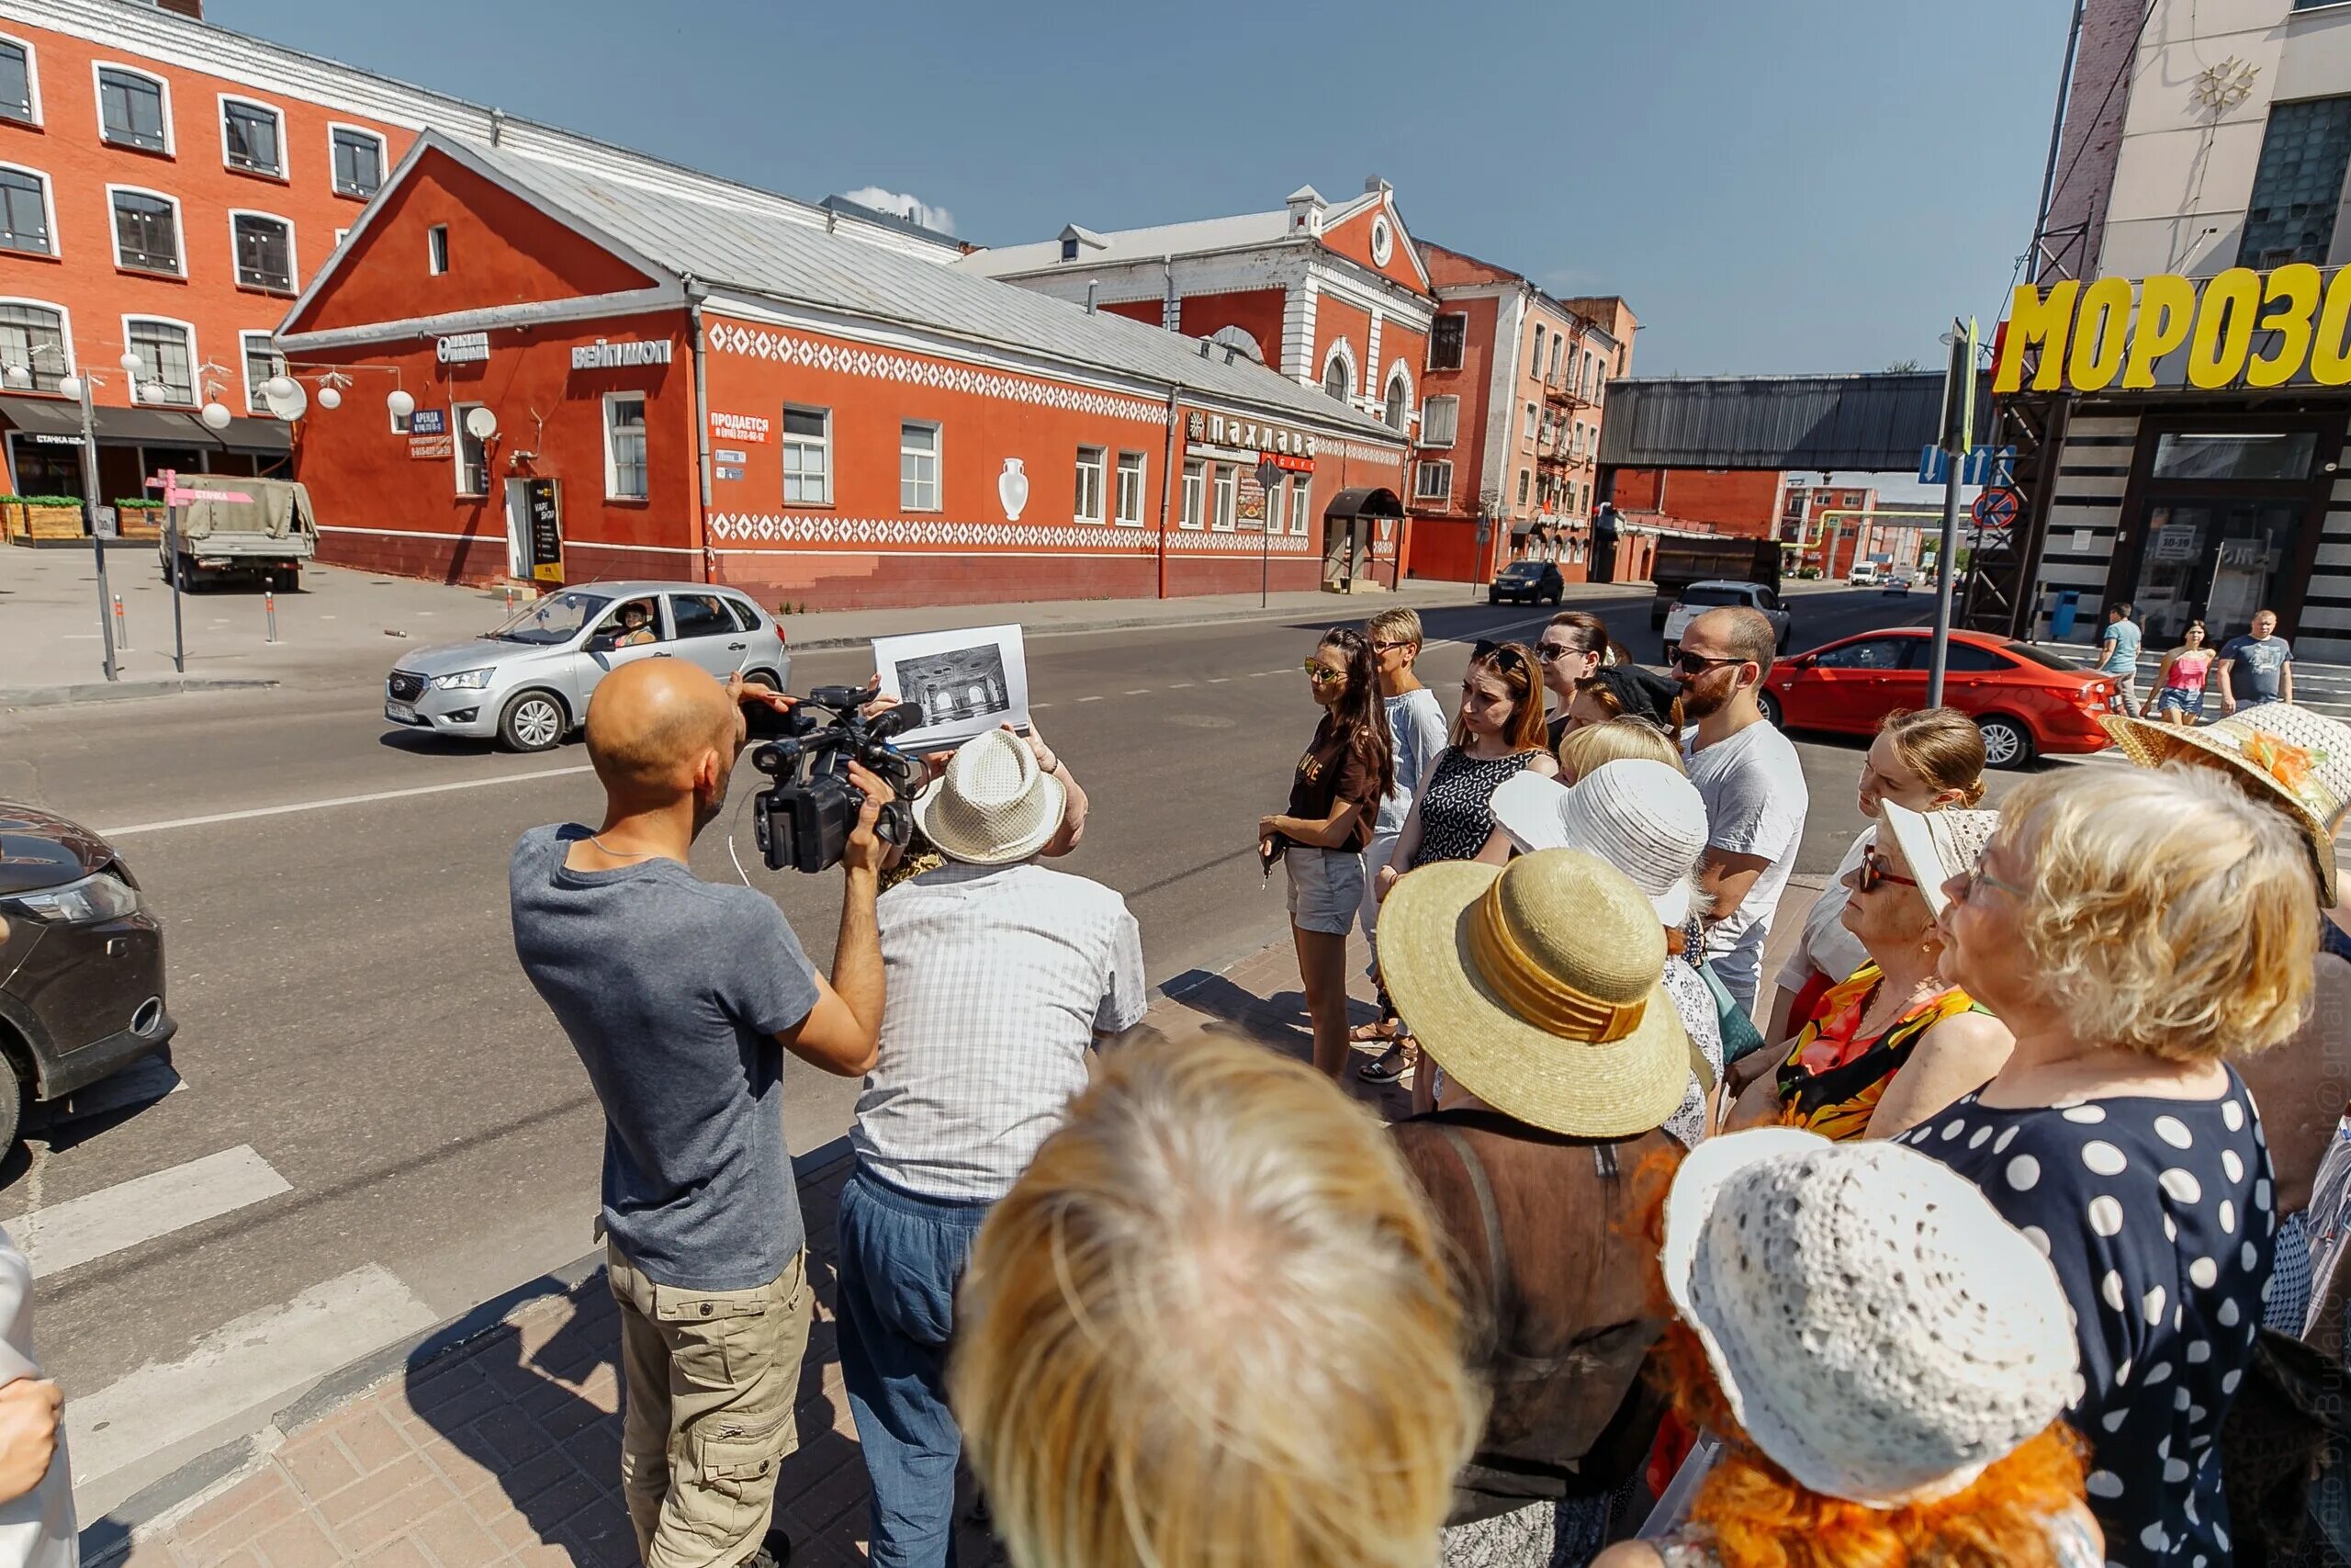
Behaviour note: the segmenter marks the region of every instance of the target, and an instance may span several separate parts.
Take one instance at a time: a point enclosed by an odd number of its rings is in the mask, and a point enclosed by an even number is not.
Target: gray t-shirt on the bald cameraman
[[[604,1103],[604,1232],[654,1284],[764,1286],[806,1241],[776,1034],[816,969],[766,893],[677,860],[567,870],[585,837],[531,827],[508,889],[515,957]]]

